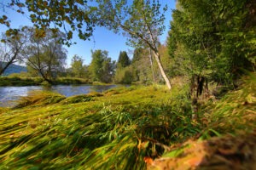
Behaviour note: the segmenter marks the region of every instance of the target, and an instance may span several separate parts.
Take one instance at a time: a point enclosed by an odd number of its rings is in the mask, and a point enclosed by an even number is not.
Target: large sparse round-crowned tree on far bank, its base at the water
[[[64,34],[55,30],[32,31],[30,43],[26,48],[26,65],[44,78],[46,82],[53,83],[58,71],[63,70],[66,64],[67,51],[60,43]]]

